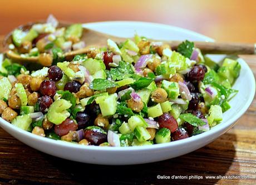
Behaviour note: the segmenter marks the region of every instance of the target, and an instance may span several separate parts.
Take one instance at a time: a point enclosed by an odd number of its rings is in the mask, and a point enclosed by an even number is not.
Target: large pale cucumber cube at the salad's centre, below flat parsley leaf
[[[96,101],[99,103],[102,116],[111,116],[116,113],[117,108],[117,94],[110,94],[109,96],[101,96],[101,99]]]

